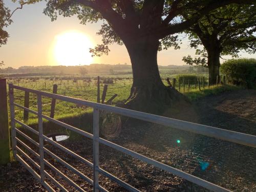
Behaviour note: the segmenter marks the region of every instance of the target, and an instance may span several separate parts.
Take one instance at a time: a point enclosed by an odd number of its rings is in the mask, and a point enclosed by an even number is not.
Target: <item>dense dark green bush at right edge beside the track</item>
[[[237,86],[245,86],[248,89],[256,87],[256,59],[227,60],[221,65],[220,72]]]

